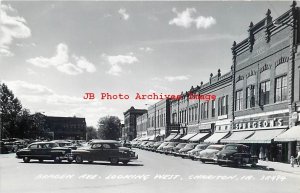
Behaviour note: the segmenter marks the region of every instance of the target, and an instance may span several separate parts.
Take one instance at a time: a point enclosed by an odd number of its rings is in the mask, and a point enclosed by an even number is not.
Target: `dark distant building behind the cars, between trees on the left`
[[[46,116],[46,125],[54,139],[85,139],[85,118]]]

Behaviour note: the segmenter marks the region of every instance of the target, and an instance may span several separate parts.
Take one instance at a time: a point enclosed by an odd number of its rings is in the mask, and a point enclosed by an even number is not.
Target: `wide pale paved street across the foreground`
[[[91,192],[300,192],[300,174],[263,167],[230,168],[135,150],[128,166],[109,163],[23,163],[0,155],[1,193]]]

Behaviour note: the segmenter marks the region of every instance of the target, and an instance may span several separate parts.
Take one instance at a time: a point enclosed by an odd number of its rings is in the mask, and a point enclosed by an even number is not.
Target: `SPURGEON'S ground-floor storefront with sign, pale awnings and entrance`
[[[287,162],[288,144],[274,140],[288,128],[288,113],[259,114],[257,117],[237,117],[232,133],[221,143],[242,143],[250,147],[251,154],[262,160]]]

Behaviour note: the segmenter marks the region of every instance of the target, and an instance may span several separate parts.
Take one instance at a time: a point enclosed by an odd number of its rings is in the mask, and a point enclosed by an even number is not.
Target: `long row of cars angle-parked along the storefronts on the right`
[[[132,141],[131,143],[133,147],[143,150],[200,160],[203,163],[214,162],[219,165],[232,166],[249,164],[255,166],[258,162],[257,156],[252,156],[249,147],[243,144],[222,145],[163,141]]]

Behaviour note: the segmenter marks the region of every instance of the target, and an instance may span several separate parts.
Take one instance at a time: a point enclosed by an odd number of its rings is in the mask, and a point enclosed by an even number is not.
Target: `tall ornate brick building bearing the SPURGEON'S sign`
[[[222,143],[244,143],[263,159],[288,161],[296,142],[274,140],[295,125],[299,101],[299,8],[249,25],[249,36],[233,44],[232,134]]]

